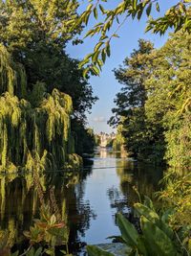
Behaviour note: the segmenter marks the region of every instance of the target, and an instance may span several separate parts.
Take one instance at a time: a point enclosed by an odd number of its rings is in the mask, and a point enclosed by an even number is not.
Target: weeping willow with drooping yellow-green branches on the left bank
[[[35,92],[43,84],[38,82],[33,87]],[[73,166],[73,162],[79,166],[81,160],[74,154],[71,133],[71,97],[57,89],[52,94],[43,92],[39,99],[27,96],[30,91],[25,70],[12,61],[2,45],[0,93],[1,172],[32,170],[36,163],[41,169],[64,168],[68,163]]]

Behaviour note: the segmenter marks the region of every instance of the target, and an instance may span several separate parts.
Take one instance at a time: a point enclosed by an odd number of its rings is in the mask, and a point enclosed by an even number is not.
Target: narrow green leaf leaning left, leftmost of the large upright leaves
[[[135,226],[120,213],[117,214],[117,226],[120,229],[122,239],[127,243],[127,245],[138,245],[138,231]]]

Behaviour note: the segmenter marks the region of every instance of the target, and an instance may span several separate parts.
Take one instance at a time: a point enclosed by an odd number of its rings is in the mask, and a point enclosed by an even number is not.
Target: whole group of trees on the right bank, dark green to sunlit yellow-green
[[[140,39],[115,70],[123,86],[109,123],[138,160],[191,166],[191,35],[170,35],[159,50]]]

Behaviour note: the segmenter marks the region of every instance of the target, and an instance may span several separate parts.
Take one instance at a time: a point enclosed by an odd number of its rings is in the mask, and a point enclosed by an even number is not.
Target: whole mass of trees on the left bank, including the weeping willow
[[[93,147],[86,112],[97,98],[66,53],[80,42],[82,28],[70,29],[77,8],[75,0],[0,1],[2,170],[30,169],[34,158],[49,168],[77,165],[74,152]]]

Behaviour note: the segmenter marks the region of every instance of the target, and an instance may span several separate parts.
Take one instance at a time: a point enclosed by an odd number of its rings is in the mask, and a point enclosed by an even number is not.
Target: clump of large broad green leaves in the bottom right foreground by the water
[[[117,226],[120,229],[121,236],[113,237],[120,241],[120,243],[127,245],[126,255],[190,255],[191,248],[189,243],[183,244],[180,233],[175,232],[168,223],[172,211],[164,212],[159,216],[149,198],[145,199],[144,204],[136,203],[134,208],[139,216],[141,232],[138,233],[134,224],[118,213]],[[97,248],[95,245],[88,245],[87,251],[89,256],[114,255],[111,252]]]

